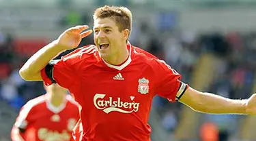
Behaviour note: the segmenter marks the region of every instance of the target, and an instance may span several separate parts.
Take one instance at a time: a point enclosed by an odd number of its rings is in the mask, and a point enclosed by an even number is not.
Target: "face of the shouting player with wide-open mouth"
[[[94,20],[94,43],[102,58],[118,54],[120,45],[126,41],[124,31],[119,32],[112,18],[97,18]]]

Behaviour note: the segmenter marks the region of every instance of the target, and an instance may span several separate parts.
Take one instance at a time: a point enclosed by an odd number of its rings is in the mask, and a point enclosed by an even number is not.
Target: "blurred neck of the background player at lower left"
[[[54,93],[52,92],[51,94],[49,94],[50,96],[48,97],[51,104],[55,107],[60,106],[61,104],[63,104],[64,100],[65,100],[65,94],[59,94],[59,93]]]

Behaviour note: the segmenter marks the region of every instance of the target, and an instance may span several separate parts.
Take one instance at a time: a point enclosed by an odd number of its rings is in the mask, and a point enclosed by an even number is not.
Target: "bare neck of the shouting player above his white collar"
[[[122,47],[119,50],[119,52],[117,52],[117,54],[115,54],[114,56],[103,58],[103,59],[109,64],[119,65],[119,64],[122,64],[124,61],[126,61],[128,57],[129,57],[129,51],[126,45],[124,45],[124,47]]]

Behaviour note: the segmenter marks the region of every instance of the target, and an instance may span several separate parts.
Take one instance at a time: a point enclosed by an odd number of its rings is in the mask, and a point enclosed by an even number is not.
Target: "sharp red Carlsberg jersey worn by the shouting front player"
[[[57,82],[68,88],[81,105],[81,140],[148,141],[154,96],[175,101],[186,89],[181,76],[164,61],[130,43],[127,47],[129,57],[120,66],[106,63],[89,45],[41,71],[46,85]]]

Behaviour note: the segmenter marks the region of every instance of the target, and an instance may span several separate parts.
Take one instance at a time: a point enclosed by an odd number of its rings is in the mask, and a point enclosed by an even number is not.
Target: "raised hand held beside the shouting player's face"
[[[83,25],[68,28],[59,36],[59,38],[57,39],[57,44],[60,47],[63,47],[63,49],[73,49],[79,46],[81,40],[92,33],[91,30],[82,33],[82,31],[84,31],[88,27],[89,26],[87,25]]]

